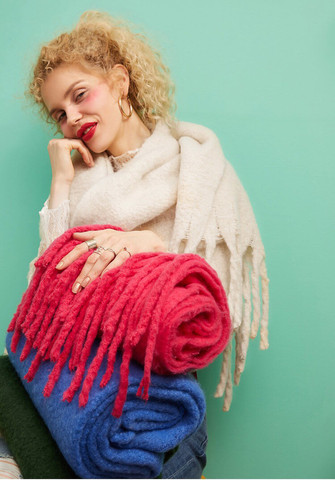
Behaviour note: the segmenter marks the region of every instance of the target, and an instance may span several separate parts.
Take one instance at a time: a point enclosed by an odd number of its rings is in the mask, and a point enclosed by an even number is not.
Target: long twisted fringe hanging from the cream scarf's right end
[[[225,241],[230,252],[230,279],[227,293],[235,336],[234,384],[238,385],[245,366],[249,338],[254,339],[257,336],[259,325],[261,325],[260,348],[266,350],[269,347],[269,279],[266,271],[264,248],[256,224],[254,229],[248,232],[249,239],[246,241],[247,233],[242,231],[243,224],[240,225],[241,231],[236,230],[236,226],[231,225],[218,212],[216,221],[220,240]],[[243,244],[241,243],[242,239],[244,240]],[[228,358],[231,352],[232,345],[230,343],[223,354],[220,380],[214,394],[215,397],[222,397],[225,394],[224,411],[229,410],[232,400],[231,358]]]

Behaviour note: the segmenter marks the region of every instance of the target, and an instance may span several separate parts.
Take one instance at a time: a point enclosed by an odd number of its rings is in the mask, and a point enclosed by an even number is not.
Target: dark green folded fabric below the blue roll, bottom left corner
[[[77,478],[51,437],[7,355],[0,357],[0,384],[0,430],[23,477]],[[7,467],[13,469],[14,475],[15,463],[10,458],[7,462]]]

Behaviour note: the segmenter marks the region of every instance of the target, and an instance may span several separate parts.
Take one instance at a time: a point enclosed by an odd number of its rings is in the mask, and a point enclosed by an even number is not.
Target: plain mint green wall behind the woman
[[[1,349],[50,182],[52,134],[23,106],[26,72],[92,8],[161,46],[179,118],[219,136],[267,251],[270,349],[251,342],[229,413],[212,397],[220,362],[200,374],[206,477],[334,477],[334,0],[1,0]]]

